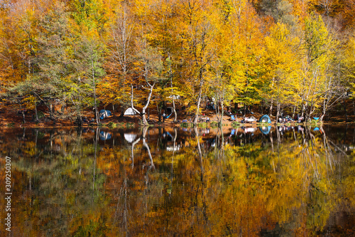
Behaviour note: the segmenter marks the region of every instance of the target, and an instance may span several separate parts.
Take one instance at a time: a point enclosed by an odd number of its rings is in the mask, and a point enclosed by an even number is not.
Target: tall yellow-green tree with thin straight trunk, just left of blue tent
[[[97,83],[106,74],[103,68],[103,53],[106,50],[103,43],[104,25],[107,23],[104,4],[100,0],[75,0],[71,2],[71,8],[74,77],[89,92],[89,97],[84,98],[82,104],[94,107],[94,116],[99,124]]]

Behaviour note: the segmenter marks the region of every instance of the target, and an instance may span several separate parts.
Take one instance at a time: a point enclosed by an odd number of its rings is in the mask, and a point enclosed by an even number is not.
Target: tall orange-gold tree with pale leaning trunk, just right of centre
[[[182,38],[181,61],[182,75],[189,85],[188,100],[193,103],[195,110],[194,124],[197,124],[200,114],[202,93],[206,89],[206,72],[214,54],[212,46],[214,26],[212,24],[212,6],[207,2],[185,1],[181,7]]]

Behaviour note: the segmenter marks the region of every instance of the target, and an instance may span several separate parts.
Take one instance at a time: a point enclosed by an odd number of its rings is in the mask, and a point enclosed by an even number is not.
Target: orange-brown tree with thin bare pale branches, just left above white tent
[[[107,77],[99,85],[100,98],[106,104],[121,105],[121,116],[130,105],[133,59],[135,54],[134,36],[136,21],[129,2],[119,2],[109,23],[107,49],[109,57],[105,68]]]

